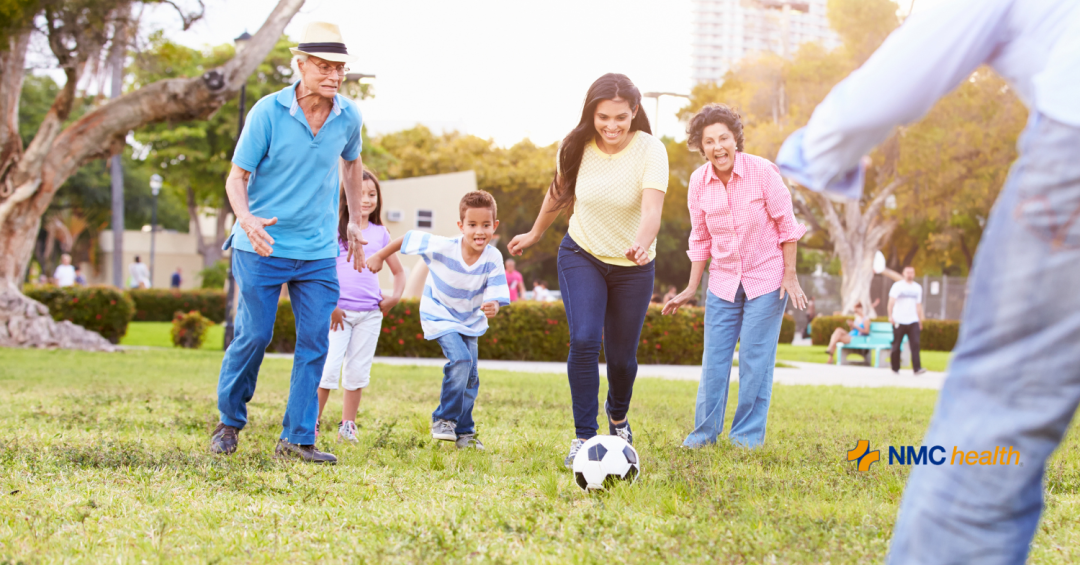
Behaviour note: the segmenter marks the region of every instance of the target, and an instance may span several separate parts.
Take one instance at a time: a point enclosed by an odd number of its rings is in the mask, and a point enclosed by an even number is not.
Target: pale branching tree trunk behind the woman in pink
[[[840,258],[840,310],[850,313],[856,304],[863,305],[863,311],[870,318],[877,317],[877,310],[870,300],[870,284],[874,282],[874,254],[896,229],[895,219],[882,219],[881,207],[886,199],[896,191],[901,180],[896,179],[879,191],[866,210],[862,210],[859,201],[847,201],[840,206],[843,217],[828,198],[810,192],[818,200],[825,215],[825,226],[828,237],[833,240],[834,250]]]

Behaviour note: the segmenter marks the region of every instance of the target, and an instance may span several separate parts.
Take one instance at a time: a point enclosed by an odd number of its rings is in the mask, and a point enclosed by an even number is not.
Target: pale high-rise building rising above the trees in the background
[[[762,51],[789,55],[809,41],[838,46],[840,39],[825,17],[826,1],[692,0],[691,78],[719,82],[740,59]]]

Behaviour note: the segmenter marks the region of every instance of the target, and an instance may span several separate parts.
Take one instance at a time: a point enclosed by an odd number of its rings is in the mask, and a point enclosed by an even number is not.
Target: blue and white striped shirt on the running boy
[[[444,238],[411,230],[402,241],[402,254],[419,255],[428,264],[428,280],[420,298],[420,326],[424,339],[458,333],[482,336],[487,317],[481,307],[496,301],[510,304],[510,286],[502,268],[502,254],[488,245],[480,259],[465,265],[461,237]]]

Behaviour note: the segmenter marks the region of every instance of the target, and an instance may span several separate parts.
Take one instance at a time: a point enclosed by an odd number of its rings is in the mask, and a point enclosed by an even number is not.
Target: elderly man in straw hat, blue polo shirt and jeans
[[[339,167],[350,217],[360,218],[363,163],[360,110],[338,94],[349,55],[338,27],[309,24],[292,50],[299,80],[260,99],[247,117],[226,180],[237,216],[232,272],[240,288],[235,338],[218,380],[221,421],[211,450],[237,450],[247,423],[259,365],[270,338],[281,285],[288,285],[296,317],[296,355],[275,457],[314,463],[337,458],[315,449],[316,389],[326,360],[330,312],[338,299],[337,210]],[[339,163],[343,161],[341,166]],[[349,248],[363,268],[359,224],[349,226]]]

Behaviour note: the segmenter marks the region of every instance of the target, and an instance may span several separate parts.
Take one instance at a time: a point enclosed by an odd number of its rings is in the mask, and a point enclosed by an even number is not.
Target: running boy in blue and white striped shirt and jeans
[[[459,448],[483,449],[472,418],[480,391],[476,341],[487,332],[487,319],[510,304],[510,287],[502,254],[489,245],[499,227],[495,199],[483,190],[469,192],[458,210],[460,237],[410,230],[369,257],[367,268],[379,272],[382,261],[397,251],[419,255],[428,264],[420,325],[424,339],[438,341],[447,359],[438,407],[431,415],[431,436],[456,442]]]

